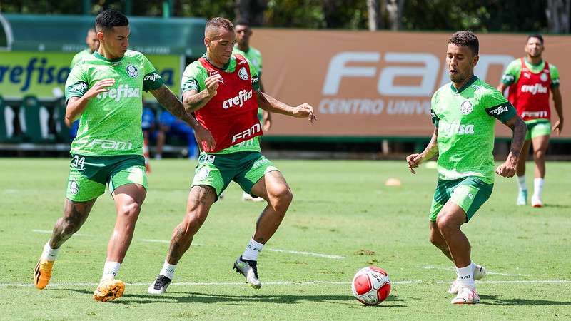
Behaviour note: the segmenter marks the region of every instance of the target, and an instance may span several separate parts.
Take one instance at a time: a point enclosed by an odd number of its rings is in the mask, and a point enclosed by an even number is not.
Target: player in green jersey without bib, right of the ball
[[[415,173],[420,163],[438,154],[430,241],[455,264],[458,277],[448,290],[457,293],[453,304],[480,302],[474,280],[484,277],[485,269],[470,259],[470,243],[460,227],[492,194],[495,119],[513,131],[510,154],[495,170],[498,175],[515,174],[526,132],[525,123],[502,93],[474,76],[478,47],[470,31],[458,31],[448,40],[446,66],[452,82],[433,95],[433,136],[422,153],[406,158]]]

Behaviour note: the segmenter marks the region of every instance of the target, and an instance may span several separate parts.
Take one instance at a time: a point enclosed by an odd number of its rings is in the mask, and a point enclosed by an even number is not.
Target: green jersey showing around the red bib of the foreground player
[[[203,57],[206,58],[206,55]],[[258,72],[256,68],[254,68],[251,63],[248,63],[250,66],[250,75],[252,78],[252,88],[253,91],[260,90],[260,83],[258,83]],[[221,68],[222,72],[226,73],[233,73],[236,70],[236,57],[231,56],[228,63],[226,63],[223,68]],[[181,88],[183,94],[187,91],[195,90],[197,92],[201,92],[206,88],[205,81],[208,78],[208,71],[202,66],[200,61],[194,61],[190,65],[186,67],[183,72],[182,84]],[[228,148],[224,148],[222,151],[216,152],[216,154],[229,154],[229,153],[236,153],[241,151],[260,151],[260,136],[256,136],[248,141],[243,141],[242,143],[237,143],[236,145],[230,146]]]

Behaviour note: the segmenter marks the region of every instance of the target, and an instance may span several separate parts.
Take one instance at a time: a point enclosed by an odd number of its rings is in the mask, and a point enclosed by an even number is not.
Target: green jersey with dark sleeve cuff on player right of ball
[[[468,176],[494,182],[495,118],[502,123],[516,116],[507,99],[476,76],[459,90],[452,83],[432,98],[433,123],[438,128],[438,178]]]

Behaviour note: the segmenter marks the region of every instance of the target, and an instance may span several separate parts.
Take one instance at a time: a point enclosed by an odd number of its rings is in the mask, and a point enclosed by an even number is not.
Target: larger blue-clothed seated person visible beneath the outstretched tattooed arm
[[[186,140],[188,144],[188,158],[198,158],[198,144],[194,138],[194,131],[187,123],[178,120],[168,111],[161,111],[158,116],[158,133],[156,137],[156,154],[155,159],[161,159],[163,156],[163,146],[167,136],[178,136]]]

